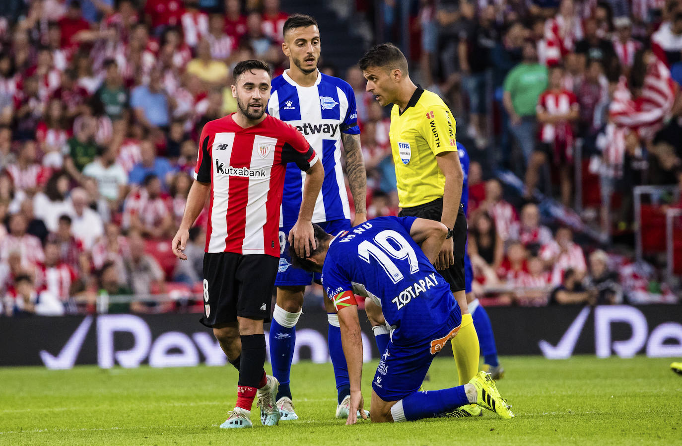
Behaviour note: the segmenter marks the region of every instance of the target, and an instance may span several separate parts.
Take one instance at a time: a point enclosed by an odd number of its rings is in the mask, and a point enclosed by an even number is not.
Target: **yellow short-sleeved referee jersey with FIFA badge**
[[[400,207],[424,205],[443,197],[445,175],[436,155],[457,151],[455,119],[439,95],[417,87],[402,113],[391,110],[391,151],[396,165]]]

